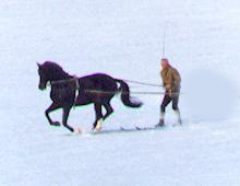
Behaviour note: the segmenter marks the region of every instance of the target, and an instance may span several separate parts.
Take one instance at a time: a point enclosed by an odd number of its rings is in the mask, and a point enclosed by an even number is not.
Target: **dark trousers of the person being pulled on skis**
[[[165,94],[164,101],[160,105],[160,112],[161,114],[165,114],[166,107],[168,106],[169,103],[172,102],[172,109],[173,111],[179,111],[178,103],[179,103],[179,94],[173,94],[169,95],[168,93]]]

